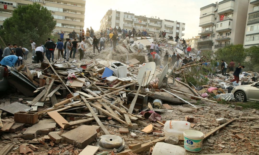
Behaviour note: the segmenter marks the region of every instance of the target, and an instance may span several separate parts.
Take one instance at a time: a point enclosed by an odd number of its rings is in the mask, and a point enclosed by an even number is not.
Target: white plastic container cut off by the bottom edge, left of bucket
[[[157,142],[152,155],[185,155],[185,149],[177,145]]]

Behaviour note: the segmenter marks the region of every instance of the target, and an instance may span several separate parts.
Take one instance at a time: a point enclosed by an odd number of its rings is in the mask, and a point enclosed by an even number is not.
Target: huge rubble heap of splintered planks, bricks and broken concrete
[[[136,155],[166,147],[196,154],[183,149],[190,142],[186,130],[204,134],[200,154],[258,154],[259,111],[224,96],[236,87],[228,81],[233,73],[204,75],[207,85],[190,87],[175,76],[185,74],[188,64],[148,63],[152,42],[160,43],[162,58],[166,52],[185,56],[180,42],[152,37],[120,39],[116,50],[107,42],[94,54],[90,38],[81,61],[9,67],[16,93],[0,100],[0,154]],[[244,72],[242,84],[258,76]],[[227,104],[219,104],[222,99]]]

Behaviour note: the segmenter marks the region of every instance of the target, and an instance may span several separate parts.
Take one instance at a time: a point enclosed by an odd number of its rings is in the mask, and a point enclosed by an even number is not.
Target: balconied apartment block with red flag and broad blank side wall
[[[247,0],[224,0],[200,8],[197,48],[217,50],[231,43],[243,44],[247,11]]]

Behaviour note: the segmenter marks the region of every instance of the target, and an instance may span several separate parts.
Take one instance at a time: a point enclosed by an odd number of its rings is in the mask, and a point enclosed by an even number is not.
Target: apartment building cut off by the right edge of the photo
[[[259,0],[249,0],[244,47],[259,45]]]

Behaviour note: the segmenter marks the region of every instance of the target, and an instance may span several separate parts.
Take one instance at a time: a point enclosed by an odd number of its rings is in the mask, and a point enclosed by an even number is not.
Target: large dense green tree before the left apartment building
[[[4,29],[0,33],[6,43],[30,49],[30,40],[37,45],[44,43],[44,40],[50,37],[55,25],[56,21],[46,7],[38,3],[19,5],[13,11],[12,17],[4,21]]]

